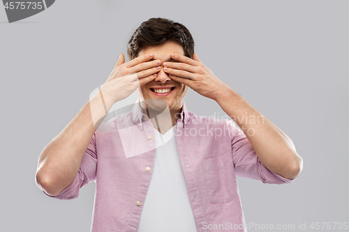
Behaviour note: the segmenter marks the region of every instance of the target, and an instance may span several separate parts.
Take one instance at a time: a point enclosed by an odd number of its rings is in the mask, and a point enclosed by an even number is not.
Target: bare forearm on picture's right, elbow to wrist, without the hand
[[[223,111],[242,128],[260,162],[284,178],[293,179],[302,171],[302,157],[292,140],[241,95],[229,88],[215,99]]]

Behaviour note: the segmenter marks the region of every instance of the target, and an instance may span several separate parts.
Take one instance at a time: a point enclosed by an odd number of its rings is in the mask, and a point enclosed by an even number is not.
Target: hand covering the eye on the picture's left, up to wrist
[[[161,61],[149,61],[153,56],[145,54],[125,63],[124,54],[120,54],[117,64],[101,88],[105,101],[114,104],[124,100],[137,88],[154,80],[156,72],[161,70]]]

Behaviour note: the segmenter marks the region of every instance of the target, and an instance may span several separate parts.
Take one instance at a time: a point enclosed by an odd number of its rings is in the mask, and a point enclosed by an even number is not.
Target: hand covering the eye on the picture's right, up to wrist
[[[174,81],[193,88],[200,95],[216,100],[219,95],[231,90],[200,61],[198,54],[195,53],[193,59],[190,59],[187,56],[174,53],[171,54],[171,58],[179,63],[164,62],[164,72],[168,73]]]

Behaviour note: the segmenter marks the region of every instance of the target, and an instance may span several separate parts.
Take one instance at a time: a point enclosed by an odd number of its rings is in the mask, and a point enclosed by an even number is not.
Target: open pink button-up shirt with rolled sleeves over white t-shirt
[[[181,169],[200,232],[246,231],[236,176],[270,184],[292,181],[260,162],[233,121],[198,116],[187,111],[183,102],[176,132]],[[75,199],[80,187],[95,180],[91,231],[135,232],[149,187],[154,149],[154,126],[137,103],[132,111],[98,127],[77,176],[53,197]],[[209,228],[226,222],[229,229]]]

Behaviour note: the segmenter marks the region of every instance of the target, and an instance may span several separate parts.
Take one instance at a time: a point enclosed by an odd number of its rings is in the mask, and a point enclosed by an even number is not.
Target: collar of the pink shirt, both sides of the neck
[[[147,116],[147,114],[143,113],[142,107],[140,107],[140,98],[138,98],[138,100],[135,102],[135,105],[133,106],[133,109],[131,111],[131,115],[132,115],[132,120],[133,123],[135,123],[136,125],[140,125],[140,129],[142,130],[142,122],[146,121],[149,119],[149,117]],[[181,119],[179,119],[179,122],[183,123],[183,127],[184,125],[186,125],[188,121],[188,110],[186,109],[186,104],[183,102],[182,107],[181,107]]]

